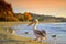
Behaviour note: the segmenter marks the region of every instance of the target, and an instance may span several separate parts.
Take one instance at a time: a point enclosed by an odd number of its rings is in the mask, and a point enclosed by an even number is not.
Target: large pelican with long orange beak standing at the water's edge
[[[33,32],[34,32],[34,35],[36,36],[35,41],[40,40],[40,42],[42,42],[42,40],[45,40],[46,38],[46,31],[45,30],[37,30],[36,29],[36,25],[38,23],[38,20],[35,19],[33,22],[31,22],[28,26],[33,25]]]

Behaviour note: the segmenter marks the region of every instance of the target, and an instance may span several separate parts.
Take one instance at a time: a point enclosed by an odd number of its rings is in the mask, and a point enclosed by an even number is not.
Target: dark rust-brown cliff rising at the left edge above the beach
[[[0,21],[18,21],[11,4],[8,4],[4,0],[0,0]]]

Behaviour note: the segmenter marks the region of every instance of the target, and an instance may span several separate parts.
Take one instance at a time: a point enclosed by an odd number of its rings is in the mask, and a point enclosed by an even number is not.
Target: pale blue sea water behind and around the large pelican
[[[47,40],[44,42],[52,42],[53,44],[66,44],[66,22],[63,23],[38,23],[37,30],[45,30]],[[15,34],[24,37],[35,38],[33,33],[33,25],[28,26],[28,24],[19,24],[13,26],[16,29]],[[29,32],[25,34],[25,32]],[[52,37],[52,35],[56,37]]]

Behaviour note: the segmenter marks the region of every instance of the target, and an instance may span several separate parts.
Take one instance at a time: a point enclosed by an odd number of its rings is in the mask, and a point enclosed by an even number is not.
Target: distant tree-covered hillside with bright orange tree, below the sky
[[[28,20],[30,21],[30,20],[38,19],[40,21],[43,22],[66,22],[66,18],[56,18],[52,15],[35,14],[30,12],[15,13],[15,16],[20,21],[28,21]]]

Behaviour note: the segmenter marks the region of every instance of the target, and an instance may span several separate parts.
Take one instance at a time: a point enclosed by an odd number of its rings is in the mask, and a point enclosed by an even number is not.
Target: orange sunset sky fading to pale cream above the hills
[[[15,13],[31,12],[66,18],[66,0],[6,0]]]

